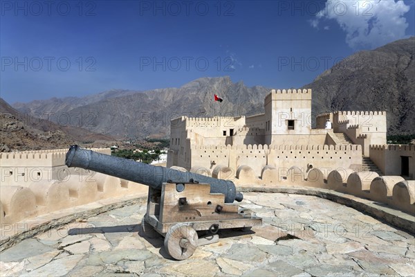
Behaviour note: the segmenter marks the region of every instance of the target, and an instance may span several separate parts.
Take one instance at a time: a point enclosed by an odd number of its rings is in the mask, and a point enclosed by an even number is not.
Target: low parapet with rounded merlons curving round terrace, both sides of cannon
[[[19,156],[19,154],[15,155]],[[62,157],[62,155],[58,156]],[[185,171],[185,168],[177,169]],[[21,181],[12,186],[4,186],[2,183],[0,186],[0,229],[7,224],[46,215],[64,208],[82,206],[113,197],[145,195],[148,191],[148,187],[142,184],[89,170],[66,168],[66,171],[68,176],[61,180],[29,179],[29,181]],[[234,181],[239,187],[304,186],[330,189],[371,199],[415,215],[415,181],[405,181],[398,176],[380,177],[376,172],[355,172],[349,168],[331,170],[313,168],[311,165],[306,168],[263,166],[260,176],[257,176],[257,172],[245,164],[241,164],[236,172],[225,163],[212,168],[196,166],[190,171],[228,179]]]

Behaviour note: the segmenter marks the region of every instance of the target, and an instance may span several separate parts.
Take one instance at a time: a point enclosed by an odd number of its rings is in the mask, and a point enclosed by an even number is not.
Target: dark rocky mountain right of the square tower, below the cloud
[[[388,134],[415,133],[415,37],[360,51],[319,75],[313,118],[326,111],[387,111]]]

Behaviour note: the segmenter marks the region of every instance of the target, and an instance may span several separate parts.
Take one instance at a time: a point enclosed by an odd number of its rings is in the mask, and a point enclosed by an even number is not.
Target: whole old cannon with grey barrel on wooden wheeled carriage
[[[65,164],[149,186],[140,235],[163,235],[167,253],[176,260],[189,258],[197,246],[217,242],[220,229],[247,231],[262,224],[260,217],[234,204],[243,195],[230,180],[151,166],[77,145],[69,148]]]

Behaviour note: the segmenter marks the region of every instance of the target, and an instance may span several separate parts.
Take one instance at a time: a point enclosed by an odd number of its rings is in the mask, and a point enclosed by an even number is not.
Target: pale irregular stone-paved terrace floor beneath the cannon
[[[171,260],[138,235],[145,206],[124,206],[35,235],[0,254],[1,276],[414,276],[413,235],[319,197],[245,193],[251,231]]]

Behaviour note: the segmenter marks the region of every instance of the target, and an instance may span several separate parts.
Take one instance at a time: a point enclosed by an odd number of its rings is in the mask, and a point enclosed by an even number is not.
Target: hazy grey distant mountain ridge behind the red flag
[[[19,111],[48,115],[53,122],[83,127],[91,132],[136,139],[168,137],[170,119],[178,116],[212,117],[264,111],[270,89],[246,87],[229,77],[199,78],[180,88],[151,91],[109,91],[106,97],[53,98],[14,105]],[[218,94],[223,102],[214,102]],[[43,103],[43,104],[42,104]]]

